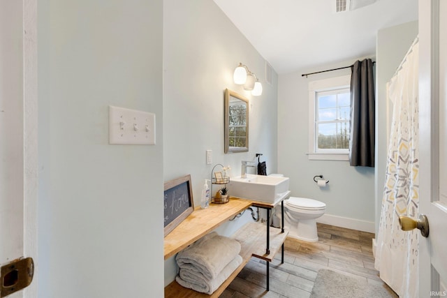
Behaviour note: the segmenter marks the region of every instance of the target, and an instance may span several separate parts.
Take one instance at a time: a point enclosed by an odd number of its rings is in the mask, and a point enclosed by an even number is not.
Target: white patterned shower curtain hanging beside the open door
[[[419,231],[400,229],[399,216],[418,218],[418,38],[388,82],[393,120],[388,144],[386,182],[377,234],[375,267],[399,297],[417,297]]]

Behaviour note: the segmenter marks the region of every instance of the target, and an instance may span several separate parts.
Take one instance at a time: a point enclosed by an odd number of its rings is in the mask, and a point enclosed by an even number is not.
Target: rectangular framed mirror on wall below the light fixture
[[[225,89],[225,153],[249,151],[249,100]]]

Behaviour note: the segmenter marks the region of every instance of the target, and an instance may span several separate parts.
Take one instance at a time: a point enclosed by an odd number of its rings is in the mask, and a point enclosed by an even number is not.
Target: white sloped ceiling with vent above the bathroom
[[[214,0],[279,74],[372,56],[379,29],[418,19],[418,0],[378,0],[343,13],[335,1]]]

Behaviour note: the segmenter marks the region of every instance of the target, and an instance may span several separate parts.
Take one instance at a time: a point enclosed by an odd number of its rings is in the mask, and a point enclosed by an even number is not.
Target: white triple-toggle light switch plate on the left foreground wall
[[[109,144],[155,144],[155,114],[109,106]]]

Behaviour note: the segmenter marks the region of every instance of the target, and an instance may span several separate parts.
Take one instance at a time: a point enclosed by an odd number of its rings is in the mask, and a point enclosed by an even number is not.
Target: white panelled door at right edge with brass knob
[[[447,296],[447,1],[419,1],[420,237],[419,297]]]

